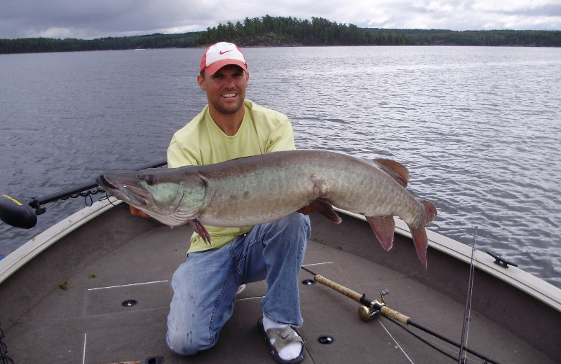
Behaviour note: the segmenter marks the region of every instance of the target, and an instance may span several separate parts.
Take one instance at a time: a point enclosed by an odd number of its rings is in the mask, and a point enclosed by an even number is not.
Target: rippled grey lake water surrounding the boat
[[[298,148],[386,157],[430,200],[428,229],[561,287],[561,48],[248,48],[248,99],[286,113]],[[27,200],[165,159],[206,104],[202,50],[0,55],[0,193]],[[0,224],[7,255],[32,230]],[[430,256],[429,269],[430,269]]]

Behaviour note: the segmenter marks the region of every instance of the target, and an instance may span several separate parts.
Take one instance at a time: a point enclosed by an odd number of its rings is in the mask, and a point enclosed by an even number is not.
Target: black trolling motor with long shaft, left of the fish
[[[168,162],[163,160],[159,162],[151,162],[144,165],[133,167],[140,171],[147,168],[158,168],[167,165]],[[86,191],[86,192],[84,192]],[[74,185],[57,193],[51,193],[43,197],[32,197],[29,202],[20,202],[20,200],[10,195],[0,196],[0,220],[15,228],[31,229],[37,223],[37,216],[44,214],[47,209],[43,204],[54,202],[57,200],[67,200],[76,197],[88,197],[105,191],[97,185],[97,182],[88,182]]]

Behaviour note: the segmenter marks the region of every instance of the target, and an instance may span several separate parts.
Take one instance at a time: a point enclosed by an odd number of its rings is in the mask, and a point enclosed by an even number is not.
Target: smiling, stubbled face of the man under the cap
[[[203,72],[197,76],[198,85],[206,91],[208,105],[219,113],[236,113],[245,99],[249,73],[240,66],[229,64],[212,76]]]

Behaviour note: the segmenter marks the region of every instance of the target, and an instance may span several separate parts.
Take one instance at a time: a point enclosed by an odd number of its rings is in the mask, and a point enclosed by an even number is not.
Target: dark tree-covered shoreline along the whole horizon
[[[0,54],[74,52],[83,50],[127,50],[149,48],[194,48],[217,41],[241,47],[321,45],[480,45],[561,47],[561,31],[381,29],[359,28],[323,18],[245,18],[235,24],[219,24],[205,31],[183,34],[149,34],[83,40],[76,38],[0,39]]]

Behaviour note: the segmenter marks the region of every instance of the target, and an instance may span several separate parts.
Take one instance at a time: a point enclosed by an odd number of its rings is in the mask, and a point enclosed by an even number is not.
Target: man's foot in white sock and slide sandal
[[[263,316],[257,326],[278,363],[295,364],[304,359],[304,340],[289,325],[275,323]]]

